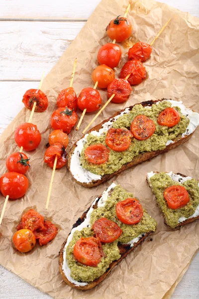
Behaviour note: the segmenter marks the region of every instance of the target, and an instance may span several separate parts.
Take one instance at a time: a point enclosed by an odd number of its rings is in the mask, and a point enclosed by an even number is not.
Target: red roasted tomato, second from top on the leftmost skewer
[[[38,148],[41,134],[36,125],[24,123],[16,128],[14,140],[19,148],[29,151]]]

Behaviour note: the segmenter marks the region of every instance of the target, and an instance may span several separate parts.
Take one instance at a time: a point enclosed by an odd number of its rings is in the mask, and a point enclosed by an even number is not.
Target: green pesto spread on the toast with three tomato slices
[[[141,221],[135,225],[123,224],[118,220],[115,213],[115,204],[118,201],[129,197],[133,197],[133,194],[127,193],[120,185],[115,186],[111,194],[108,194],[105,205],[93,210],[91,214],[90,227],[86,227],[82,231],[75,231],[72,241],[67,246],[66,256],[68,266],[71,269],[71,277],[76,281],[91,282],[100,277],[109,267],[111,262],[120,258],[119,249],[117,247],[118,242],[126,244],[132,239],[138,237],[140,234],[156,230],[156,221],[149,216],[145,210]],[[94,222],[101,217],[105,217],[116,222],[122,229],[123,233],[114,242],[102,244],[105,257],[101,258],[97,267],[82,265],[74,258],[74,246],[81,237],[86,238],[94,236],[94,232],[91,228]]]

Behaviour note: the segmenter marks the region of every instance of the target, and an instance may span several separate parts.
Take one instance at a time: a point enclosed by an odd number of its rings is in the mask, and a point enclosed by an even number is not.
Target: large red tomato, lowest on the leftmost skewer
[[[18,172],[6,172],[0,177],[0,192],[4,197],[17,199],[25,195],[29,185],[27,177]]]

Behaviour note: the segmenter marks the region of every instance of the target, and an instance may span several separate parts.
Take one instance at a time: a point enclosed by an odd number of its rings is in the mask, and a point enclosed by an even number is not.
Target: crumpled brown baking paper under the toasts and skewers
[[[59,250],[73,223],[113,179],[93,189],[87,189],[72,179],[66,167],[56,170],[49,209],[45,210],[52,173],[52,169],[43,162],[45,144],[52,130],[50,116],[56,109],[58,93],[69,86],[75,57],[78,58],[74,78],[77,94],[82,88],[93,86],[91,74],[98,65],[97,52],[101,45],[110,41],[105,26],[110,19],[124,13],[127,5],[128,0],[102,0],[71,46],[45,78],[42,90],[47,94],[50,103],[46,112],[35,113],[33,116],[32,122],[37,124],[42,134],[42,142],[38,149],[28,152],[31,158],[31,168],[27,173],[30,186],[24,198],[8,202],[0,226],[0,263],[56,299],[168,299],[199,248],[199,222],[171,231],[163,223],[155,198],[146,183],[146,173],[151,170],[173,170],[199,179],[197,130],[183,146],[127,169],[114,178],[116,183],[132,191],[157,220],[157,231],[151,239],[129,254],[93,290],[74,290],[62,281],[59,273]],[[123,56],[119,66],[115,68],[116,76],[127,60],[125,53],[128,46],[136,41],[151,42],[170,17],[170,24],[156,40],[150,59],[144,63],[147,79],[134,87],[126,103],[109,104],[94,125],[124,107],[163,97],[183,100],[186,106],[199,112],[199,19],[189,13],[152,0],[133,2],[128,14],[133,25],[133,34],[130,40],[122,45]],[[106,91],[100,90],[100,94],[105,102]],[[80,116],[81,112],[78,114]],[[0,138],[1,174],[6,171],[6,157],[19,150],[14,142],[14,130],[19,124],[28,121],[29,115],[30,111],[24,108]],[[87,114],[80,131],[71,132],[70,146],[82,136],[83,129],[93,116],[94,114]],[[3,201],[1,196],[0,211]],[[22,212],[28,208],[37,209],[46,219],[53,221],[59,227],[59,232],[47,246],[40,248],[36,245],[31,252],[21,254],[13,248],[11,239]]]

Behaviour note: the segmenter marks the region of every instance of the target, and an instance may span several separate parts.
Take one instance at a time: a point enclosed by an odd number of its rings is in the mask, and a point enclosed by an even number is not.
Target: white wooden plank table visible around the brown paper
[[[199,0],[159,0],[199,17]],[[0,133],[84,26],[100,0],[0,0]],[[0,299],[50,299],[0,266]],[[172,299],[199,299],[199,253]]]

